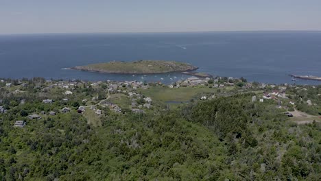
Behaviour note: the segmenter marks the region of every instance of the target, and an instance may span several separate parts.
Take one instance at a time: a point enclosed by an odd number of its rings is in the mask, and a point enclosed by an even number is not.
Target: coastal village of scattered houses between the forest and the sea
[[[21,120],[12,120],[14,121],[14,127],[23,128],[30,120],[54,117],[57,114],[68,114],[70,112],[83,114],[88,119],[88,123],[91,123],[93,117],[108,117],[108,114],[127,114],[128,112],[145,114],[145,112],[152,111],[154,107],[159,107],[161,103],[161,100],[154,99],[152,94],[143,94],[143,92],[148,93],[151,88],[165,88],[169,93],[178,90],[182,90],[182,93],[184,93],[184,88],[192,88],[191,90],[195,90],[195,94],[183,97],[187,101],[191,99],[204,101],[237,93],[254,93],[253,102],[273,103],[278,108],[283,109],[289,117],[293,117],[290,112],[294,111],[296,105],[302,104],[302,102],[307,106],[318,107],[318,104],[311,99],[303,100],[302,97],[298,99],[298,96],[292,95],[291,90],[293,89],[299,92],[307,92],[306,86],[247,82],[243,77],[188,77],[169,85],[161,82],[149,84],[141,81],[113,82],[110,80],[106,82],[84,82],[80,80],[54,81],[40,78],[33,83],[30,82],[31,80],[0,80],[1,97],[16,97],[14,103],[0,99],[0,114],[6,114],[14,106],[28,104],[28,98],[23,96],[26,95],[25,93],[29,88],[36,90],[39,95],[37,99],[32,99],[32,102],[38,101],[38,108],[24,110],[25,112],[21,113]],[[204,88],[206,88],[206,91],[198,91],[204,90]],[[316,87],[309,86],[309,88]],[[170,101],[176,100],[169,100],[167,103]]]

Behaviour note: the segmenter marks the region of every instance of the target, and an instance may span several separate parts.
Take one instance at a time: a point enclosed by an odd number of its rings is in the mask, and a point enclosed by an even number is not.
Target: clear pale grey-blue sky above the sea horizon
[[[0,34],[321,30],[321,0],[0,0]]]

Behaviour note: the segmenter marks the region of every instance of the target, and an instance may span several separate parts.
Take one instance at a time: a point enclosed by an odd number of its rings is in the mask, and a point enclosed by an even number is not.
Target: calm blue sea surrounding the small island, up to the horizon
[[[112,60],[176,60],[213,75],[292,83],[321,76],[321,32],[33,34],[0,36],[0,77],[172,82],[171,75],[116,75],[64,69]],[[161,80],[160,78],[163,78]],[[320,84],[298,80],[298,84]]]

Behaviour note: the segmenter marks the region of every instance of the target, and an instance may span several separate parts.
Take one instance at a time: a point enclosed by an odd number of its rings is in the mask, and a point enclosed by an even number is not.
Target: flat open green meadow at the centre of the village
[[[200,87],[180,87],[180,88],[168,88],[168,87],[150,87],[148,89],[139,89],[139,91],[147,96],[152,97],[156,101],[189,101],[198,94],[205,93],[217,93],[217,88],[209,88],[208,86]]]

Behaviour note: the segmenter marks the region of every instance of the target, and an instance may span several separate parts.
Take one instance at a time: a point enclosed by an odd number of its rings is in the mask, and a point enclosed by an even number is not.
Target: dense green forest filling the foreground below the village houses
[[[272,101],[252,102],[254,93],[156,104],[145,114],[105,110],[102,126],[93,126],[75,110],[83,97],[104,98],[103,88],[80,87],[68,103],[41,104],[62,95],[40,95],[29,84],[23,95],[1,89],[8,112],[0,114],[0,180],[321,179],[320,123],[289,121]],[[73,111],[12,127],[31,112],[64,106]]]

